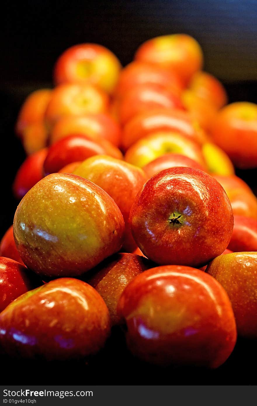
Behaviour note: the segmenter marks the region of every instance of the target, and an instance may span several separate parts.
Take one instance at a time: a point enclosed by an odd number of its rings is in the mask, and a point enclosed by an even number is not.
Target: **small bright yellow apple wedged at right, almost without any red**
[[[235,175],[229,156],[218,145],[205,143],[202,146],[202,153],[209,173],[222,176]]]

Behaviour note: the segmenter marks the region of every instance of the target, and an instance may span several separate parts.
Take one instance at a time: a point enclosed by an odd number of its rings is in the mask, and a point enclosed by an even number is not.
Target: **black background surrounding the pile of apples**
[[[185,32],[201,44],[205,70],[222,80],[230,102],[257,102],[256,0],[23,0],[2,3],[1,15],[0,236],[13,220],[17,202],[11,184],[25,158],[13,132],[17,113],[28,93],[52,85],[54,62],[69,46],[100,43],[126,65],[143,41]],[[256,171],[237,173],[256,192]],[[30,372],[20,381],[23,363],[6,360],[5,378],[13,384],[256,384],[251,373],[256,354],[254,342],[241,340],[229,361],[216,371],[156,369],[134,361],[117,333],[116,341],[110,341],[105,352],[87,366],[29,364]]]

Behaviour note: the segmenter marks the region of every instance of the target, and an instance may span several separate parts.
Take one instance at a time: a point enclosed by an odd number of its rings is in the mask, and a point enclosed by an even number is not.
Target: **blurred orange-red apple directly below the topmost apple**
[[[174,72],[153,64],[133,61],[121,70],[115,97],[119,98],[128,90],[145,84],[162,86],[178,96],[184,87]]]

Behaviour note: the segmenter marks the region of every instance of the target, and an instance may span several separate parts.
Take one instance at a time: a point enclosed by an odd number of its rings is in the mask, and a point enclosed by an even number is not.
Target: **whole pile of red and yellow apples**
[[[0,246],[0,351],[84,358],[112,326],[155,364],[218,367],[257,338],[257,105],[227,104],[200,45],[167,35],[125,68],[66,50],[28,96],[27,158]],[[33,290],[32,290],[33,289]]]

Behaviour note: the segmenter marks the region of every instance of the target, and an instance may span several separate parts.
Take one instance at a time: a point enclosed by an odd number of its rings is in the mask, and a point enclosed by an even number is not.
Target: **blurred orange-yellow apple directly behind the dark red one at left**
[[[71,134],[84,134],[95,141],[104,138],[116,147],[119,147],[121,140],[119,124],[108,114],[102,113],[61,117],[52,128],[50,145]]]

